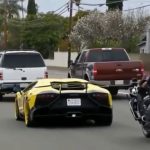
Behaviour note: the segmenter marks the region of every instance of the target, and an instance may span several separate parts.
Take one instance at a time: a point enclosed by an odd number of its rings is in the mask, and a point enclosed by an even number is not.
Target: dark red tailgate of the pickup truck
[[[130,80],[141,79],[143,64],[141,61],[109,61],[94,63],[95,80]]]

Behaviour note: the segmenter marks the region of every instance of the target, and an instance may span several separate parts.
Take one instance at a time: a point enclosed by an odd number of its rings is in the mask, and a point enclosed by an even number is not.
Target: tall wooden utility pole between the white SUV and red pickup
[[[71,33],[72,30],[72,10],[73,10],[73,2],[70,0],[70,16],[69,16],[69,34]],[[69,42],[69,47],[68,47],[68,67],[70,65],[70,60],[71,60],[71,42]]]

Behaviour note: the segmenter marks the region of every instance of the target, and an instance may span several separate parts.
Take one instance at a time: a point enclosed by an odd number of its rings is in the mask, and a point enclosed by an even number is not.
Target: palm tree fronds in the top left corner
[[[19,11],[25,11],[18,2],[24,0],[0,0],[0,14],[7,14],[8,18],[19,17]]]

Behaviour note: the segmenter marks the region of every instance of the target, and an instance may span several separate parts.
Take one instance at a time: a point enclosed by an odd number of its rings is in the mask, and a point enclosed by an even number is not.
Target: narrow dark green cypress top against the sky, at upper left
[[[27,15],[36,15],[37,14],[37,4],[35,3],[35,0],[28,0],[27,5]]]

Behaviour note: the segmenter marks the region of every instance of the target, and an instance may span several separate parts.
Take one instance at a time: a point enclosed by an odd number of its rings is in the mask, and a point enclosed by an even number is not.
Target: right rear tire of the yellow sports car
[[[111,126],[112,124],[112,116],[107,116],[107,117],[103,117],[103,118],[96,118],[96,124],[97,125],[102,125],[102,126]]]

